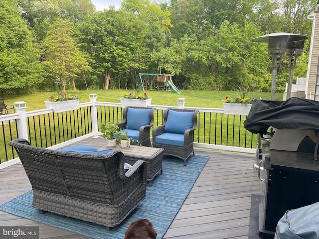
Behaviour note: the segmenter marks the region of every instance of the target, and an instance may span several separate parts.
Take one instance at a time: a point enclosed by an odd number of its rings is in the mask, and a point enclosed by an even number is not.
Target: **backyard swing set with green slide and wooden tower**
[[[137,88],[152,90],[153,86],[158,91],[173,91],[177,94],[181,92],[174,85],[171,74],[152,74],[152,73],[140,73],[137,80]]]

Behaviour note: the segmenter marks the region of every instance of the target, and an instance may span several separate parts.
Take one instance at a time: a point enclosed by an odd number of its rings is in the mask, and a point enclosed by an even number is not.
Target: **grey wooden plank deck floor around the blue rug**
[[[163,239],[248,239],[251,194],[262,189],[255,155],[201,148],[195,154],[210,159]],[[0,170],[0,205],[29,190],[20,163]],[[1,211],[0,226],[39,226],[40,239],[88,239]]]

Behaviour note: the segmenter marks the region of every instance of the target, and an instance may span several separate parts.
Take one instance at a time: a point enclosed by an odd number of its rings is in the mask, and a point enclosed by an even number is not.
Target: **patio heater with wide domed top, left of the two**
[[[264,36],[259,36],[253,38],[254,42],[268,43],[268,54],[272,56],[272,83],[271,83],[271,97],[270,100],[275,100],[275,90],[276,90],[276,79],[277,79],[277,68],[280,63],[280,56],[285,54],[290,43],[305,41],[308,38],[307,35],[277,32],[271,33]],[[291,48],[291,50],[294,48]],[[296,48],[298,49],[298,48]],[[298,51],[300,52],[300,51]]]

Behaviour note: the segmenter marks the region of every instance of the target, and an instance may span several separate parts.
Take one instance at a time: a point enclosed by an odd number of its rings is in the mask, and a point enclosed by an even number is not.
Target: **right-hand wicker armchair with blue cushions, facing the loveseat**
[[[166,109],[163,124],[153,127],[153,147],[163,148],[163,154],[179,157],[186,165],[189,155],[195,155],[193,140],[197,114],[198,110]]]

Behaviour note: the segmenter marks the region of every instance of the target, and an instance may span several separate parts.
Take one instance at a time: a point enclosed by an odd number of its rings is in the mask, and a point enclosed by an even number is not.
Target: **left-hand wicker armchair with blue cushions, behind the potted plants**
[[[128,136],[138,140],[143,146],[151,147],[151,127],[154,123],[155,108],[127,106],[122,112],[120,129],[128,131]]]

